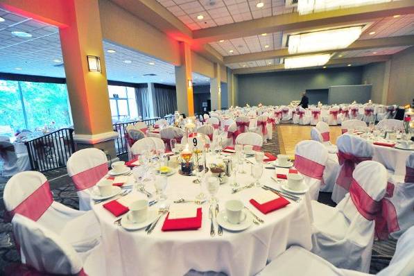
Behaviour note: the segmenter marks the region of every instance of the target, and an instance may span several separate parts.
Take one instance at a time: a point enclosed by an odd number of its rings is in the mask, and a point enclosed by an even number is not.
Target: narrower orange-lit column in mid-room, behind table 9
[[[181,65],[175,67],[175,89],[178,112],[194,115],[193,77],[191,74],[191,49],[186,42],[180,42]]]

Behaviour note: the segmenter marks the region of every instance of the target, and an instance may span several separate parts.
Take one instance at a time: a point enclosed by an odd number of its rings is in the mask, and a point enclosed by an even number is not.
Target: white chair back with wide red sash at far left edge
[[[21,214],[37,221],[53,203],[53,196],[42,173],[23,171],[6,183],[3,202],[10,217]]]

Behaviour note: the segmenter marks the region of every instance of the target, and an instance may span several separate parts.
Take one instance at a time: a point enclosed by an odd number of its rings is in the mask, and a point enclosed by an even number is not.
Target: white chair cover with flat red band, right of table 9
[[[318,200],[320,184],[327,163],[328,151],[317,141],[300,141],[295,146],[295,168],[304,176],[309,196]]]

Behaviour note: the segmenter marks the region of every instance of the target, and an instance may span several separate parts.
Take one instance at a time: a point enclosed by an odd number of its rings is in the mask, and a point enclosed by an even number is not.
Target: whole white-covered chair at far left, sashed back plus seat
[[[42,173],[13,175],[4,188],[3,201],[10,216],[21,214],[68,241],[77,252],[99,243],[101,228],[92,211],[78,211],[53,201],[49,182]]]

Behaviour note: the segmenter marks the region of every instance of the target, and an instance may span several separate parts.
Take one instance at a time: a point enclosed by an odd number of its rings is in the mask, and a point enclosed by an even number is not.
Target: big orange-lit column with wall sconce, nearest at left
[[[96,147],[116,157],[103,54],[98,0],[67,0],[67,26],[61,26],[64,71],[78,148]],[[100,59],[101,71],[89,71],[87,55]]]

